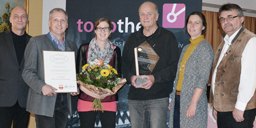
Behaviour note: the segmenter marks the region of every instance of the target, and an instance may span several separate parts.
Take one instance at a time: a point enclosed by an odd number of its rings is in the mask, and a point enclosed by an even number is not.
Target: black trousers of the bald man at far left
[[[26,108],[21,108],[18,101],[14,106],[0,107],[0,128],[27,128],[29,125],[30,113]]]

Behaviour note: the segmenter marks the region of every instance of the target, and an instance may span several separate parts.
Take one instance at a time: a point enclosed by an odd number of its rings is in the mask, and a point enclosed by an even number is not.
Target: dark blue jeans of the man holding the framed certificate
[[[67,93],[58,93],[53,117],[35,114],[37,128],[65,128],[68,114]]]

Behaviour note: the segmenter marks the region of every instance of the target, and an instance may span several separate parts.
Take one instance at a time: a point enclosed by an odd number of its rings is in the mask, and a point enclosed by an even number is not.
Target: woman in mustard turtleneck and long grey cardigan
[[[206,18],[192,12],[186,21],[190,44],[182,49],[170,103],[169,127],[207,127],[207,83],[214,54],[204,39]]]

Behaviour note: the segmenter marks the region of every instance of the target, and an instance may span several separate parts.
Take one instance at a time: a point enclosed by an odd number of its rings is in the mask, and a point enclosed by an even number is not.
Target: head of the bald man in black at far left
[[[12,9],[10,22],[12,23],[12,32],[16,35],[23,35],[28,23],[26,10],[20,6]]]

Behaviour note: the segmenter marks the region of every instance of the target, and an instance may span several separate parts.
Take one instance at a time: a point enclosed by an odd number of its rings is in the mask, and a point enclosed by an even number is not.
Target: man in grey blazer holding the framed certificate
[[[74,85],[63,85],[61,82],[74,78],[67,77],[73,70],[73,67],[65,68],[65,63],[74,60],[77,51],[75,43],[65,39],[65,30],[67,29],[67,13],[61,8],[55,8],[50,11],[48,20],[50,32],[47,35],[40,35],[30,39],[25,50],[25,68],[22,72],[22,78],[29,85],[29,94],[27,98],[27,111],[35,114],[37,127],[63,127],[67,123],[67,116],[71,110],[70,94],[67,91],[60,91],[65,87],[74,87]],[[58,52],[47,56],[43,51]],[[63,55],[73,51],[72,56]],[[50,61],[46,61],[50,60]],[[49,69],[49,63],[50,64]],[[63,66],[59,66],[59,64]],[[64,67],[64,68],[63,68]],[[50,73],[48,72],[50,70]],[[75,70],[75,66],[74,66]],[[66,73],[64,73],[66,72]],[[60,83],[61,87],[56,87],[54,82]],[[47,78],[47,79],[46,79]],[[77,89],[77,88],[76,88]],[[57,93],[58,92],[58,93]],[[65,93],[63,93],[65,92]],[[77,91],[71,95],[77,95]]]

